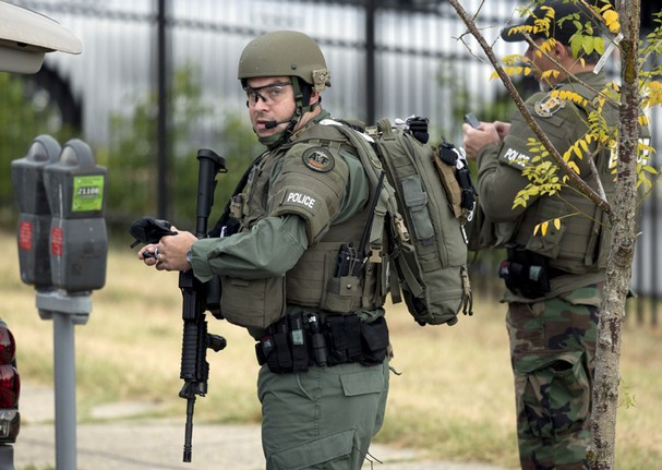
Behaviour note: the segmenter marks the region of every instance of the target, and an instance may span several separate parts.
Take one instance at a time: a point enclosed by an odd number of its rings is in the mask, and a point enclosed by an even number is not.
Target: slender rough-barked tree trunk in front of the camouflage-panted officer
[[[612,246],[606,267],[604,298],[595,351],[595,377],[589,459],[593,470],[615,468],[616,410],[618,407],[621,326],[635,253],[637,144],[639,137],[638,40],[641,0],[619,0],[616,10],[622,45],[621,128],[616,196],[612,202]]]

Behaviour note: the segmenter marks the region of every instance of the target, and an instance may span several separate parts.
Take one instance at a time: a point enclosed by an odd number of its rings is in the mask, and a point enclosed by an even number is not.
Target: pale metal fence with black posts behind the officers
[[[485,120],[506,119],[498,116],[501,108],[495,105],[504,101],[503,86],[490,80],[492,68],[485,56],[464,35],[466,27],[443,0],[13,2],[57,19],[82,39],[80,57],[47,56],[36,76],[34,99],[56,103],[60,120],[80,129],[82,138],[93,146],[111,146],[110,117],[132,112],[141,95],[166,99],[173,70],[189,64],[200,73],[205,103],[218,111],[214,119],[200,122],[191,138],[198,147],[217,148],[221,143],[215,141],[214,130],[226,112],[245,109],[236,79],[243,46],[261,33],[285,28],[304,32],[321,44],[333,82],[324,93],[324,105],[337,117],[370,122],[380,117],[425,116],[434,126],[432,138],[444,135],[455,142],[460,142],[461,115],[468,110]],[[507,21],[518,20],[516,0],[467,0],[462,4],[469,12],[481,7],[479,26],[497,56],[521,52],[521,45],[495,40]],[[165,138],[168,125],[177,119],[163,115],[159,138]],[[653,122],[659,122],[657,116]],[[3,152],[21,156],[23,149]],[[161,144],[155,155],[155,177],[164,181],[167,158],[160,154],[165,152]],[[165,191],[159,185],[159,194]],[[660,260],[659,197],[655,190],[643,207],[633,279],[645,298],[631,308],[638,318],[650,317],[653,323],[654,300],[662,291],[655,268]],[[165,195],[158,210],[167,215]],[[494,292],[482,276],[493,279],[493,263],[479,263],[473,272],[477,289]]]

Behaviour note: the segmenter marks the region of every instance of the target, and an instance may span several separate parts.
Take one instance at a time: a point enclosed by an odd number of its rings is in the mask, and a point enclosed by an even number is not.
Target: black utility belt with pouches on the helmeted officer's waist
[[[255,352],[260,365],[285,374],[305,372],[313,364],[381,364],[387,348],[388,327],[383,316],[363,323],[356,314],[322,317],[298,313],[270,325],[255,345]]]

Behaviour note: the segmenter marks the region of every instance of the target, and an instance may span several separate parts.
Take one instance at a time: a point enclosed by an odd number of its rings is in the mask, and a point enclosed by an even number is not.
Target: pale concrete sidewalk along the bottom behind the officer
[[[55,468],[52,389],[25,386],[21,393],[22,429],[14,444],[16,470]],[[146,405],[148,407],[148,405]],[[117,403],[98,411],[119,420],[79,424],[76,462],[80,470],[261,470],[264,457],[256,425],[193,426],[192,462],[182,462],[184,424],[180,420],[129,420],[144,412],[141,403]],[[122,419],[123,418],[123,419]],[[506,470],[481,463],[423,460],[419,453],[375,444],[374,470]],[[371,469],[365,462],[364,469]]]

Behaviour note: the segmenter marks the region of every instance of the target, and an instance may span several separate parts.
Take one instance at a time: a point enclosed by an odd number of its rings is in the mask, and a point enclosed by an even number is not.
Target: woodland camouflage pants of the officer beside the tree
[[[598,308],[577,297],[508,306],[522,470],[588,468]]]

